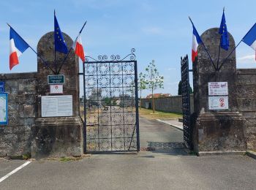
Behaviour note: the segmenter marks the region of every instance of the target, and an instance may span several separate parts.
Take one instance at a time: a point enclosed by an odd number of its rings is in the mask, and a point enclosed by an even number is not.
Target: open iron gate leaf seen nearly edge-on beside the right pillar
[[[191,148],[192,129],[190,118],[190,94],[189,94],[189,58],[181,57],[181,94],[182,94],[182,113],[183,113],[183,129],[184,142],[187,148]]]

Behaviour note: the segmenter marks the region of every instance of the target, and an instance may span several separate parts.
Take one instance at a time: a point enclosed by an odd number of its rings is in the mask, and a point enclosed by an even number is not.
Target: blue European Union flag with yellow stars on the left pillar
[[[67,54],[67,51],[68,51],[67,45],[62,35],[61,28],[59,28],[59,23],[55,16],[55,11],[54,11],[54,45],[55,45],[56,51]]]

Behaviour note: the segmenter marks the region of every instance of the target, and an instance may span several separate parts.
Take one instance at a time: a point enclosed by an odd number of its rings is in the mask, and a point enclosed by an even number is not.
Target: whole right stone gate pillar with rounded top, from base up
[[[219,28],[211,28],[201,35],[215,64],[219,53]],[[220,50],[219,63],[230,54],[235,42],[229,34],[230,47],[228,51]],[[227,59],[219,71],[215,71],[203,45],[198,47],[197,61],[193,64],[194,82],[194,121],[193,145],[195,151],[244,151],[243,118],[238,112],[236,86],[236,51]],[[210,109],[208,94],[209,82],[227,82],[228,109]],[[217,96],[217,99],[219,97]],[[222,101],[222,100],[220,100]],[[226,102],[225,102],[226,103]]]

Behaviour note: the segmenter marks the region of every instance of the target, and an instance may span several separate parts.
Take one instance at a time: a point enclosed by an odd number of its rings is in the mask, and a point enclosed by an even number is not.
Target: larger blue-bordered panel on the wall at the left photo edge
[[[0,94],[0,125],[8,124],[8,94]]]

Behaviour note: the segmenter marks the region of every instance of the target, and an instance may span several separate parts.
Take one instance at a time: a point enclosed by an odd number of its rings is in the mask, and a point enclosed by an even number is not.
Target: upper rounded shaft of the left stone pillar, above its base
[[[73,41],[67,35],[64,34],[64,39],[67,43],[67,47],[72,47]],[[41,39],[39,39],[37,45],[37,52],[45,58],[45,61],[48,65],[55,71],[55,66],[57,64],[57,70],[62,64],[64,60],[65,54],[56,52],[56,64],[54,63],[54,39],[53,39],[53,31],[45,34]],[[61,75],[65,75],[65,83],[64,83],[64,94],[72,95],[73,98],[73,116],[79,115],[79,64],[78,58],[75,57],[74,50],[71,50],[67,61],[62,66],[60,71]],[[37,78],[38,78],[38,91],[37,93],[41,96],[50,95],[50,88],[48,85],[48,75],[53,75],[53,72],[50,69],[45,67],[45,64],[42,62],[41,59],[38,59],[37,62]],[[41,117],[41,101],[39,97],[39,104],[38,104],[38,117]]]

